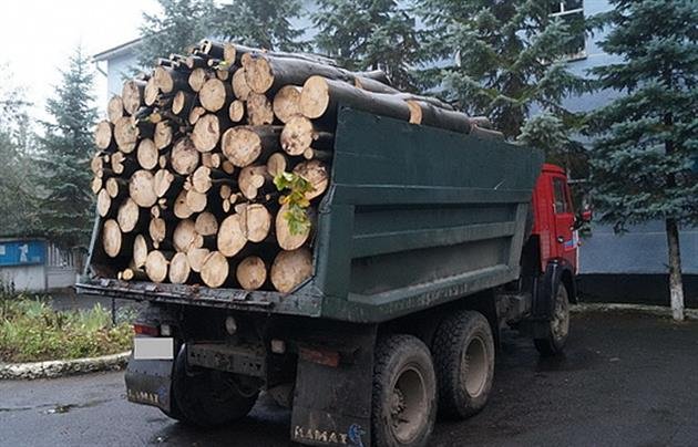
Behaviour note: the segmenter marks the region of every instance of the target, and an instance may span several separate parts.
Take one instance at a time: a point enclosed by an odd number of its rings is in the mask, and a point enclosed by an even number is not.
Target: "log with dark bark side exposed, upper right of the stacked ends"
[[[280,126],[239,126],[223,134],[223,154],[234,166],[245,167],[253,163],[266,162],[269,155],[280,148]]]

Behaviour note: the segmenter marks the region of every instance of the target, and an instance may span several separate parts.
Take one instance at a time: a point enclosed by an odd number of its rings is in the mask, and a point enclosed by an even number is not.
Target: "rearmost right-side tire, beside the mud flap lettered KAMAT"
[[[437,419],[437,381],[429,349],[412,335],[378,341],[371,432],[378,447],[428,445]]]

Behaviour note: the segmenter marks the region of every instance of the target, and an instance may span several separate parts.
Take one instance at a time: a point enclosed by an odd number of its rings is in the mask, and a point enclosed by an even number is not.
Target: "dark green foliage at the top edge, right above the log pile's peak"
[[[304,31],[291,25],[302,12],[299,0],[235,0],[216,12],[215,35],[266,50],[304,50]]]

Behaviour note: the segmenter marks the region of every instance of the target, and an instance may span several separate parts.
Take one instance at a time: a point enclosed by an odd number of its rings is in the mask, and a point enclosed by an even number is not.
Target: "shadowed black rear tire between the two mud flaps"
[[[188,368],[186,347],[175,361],[173,389],[178,419],[198,427],[220,426],[247,416],[259,395],[258,389],[240,389],[233,374]]]

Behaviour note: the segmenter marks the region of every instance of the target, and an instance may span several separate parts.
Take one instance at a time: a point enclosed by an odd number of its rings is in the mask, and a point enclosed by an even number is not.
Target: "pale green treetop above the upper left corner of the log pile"
[[[209,37],[215,12],[213,0],[158,0],[161,14],[143,14],[138,65],[152,66],[157,58],[184,53]]]

